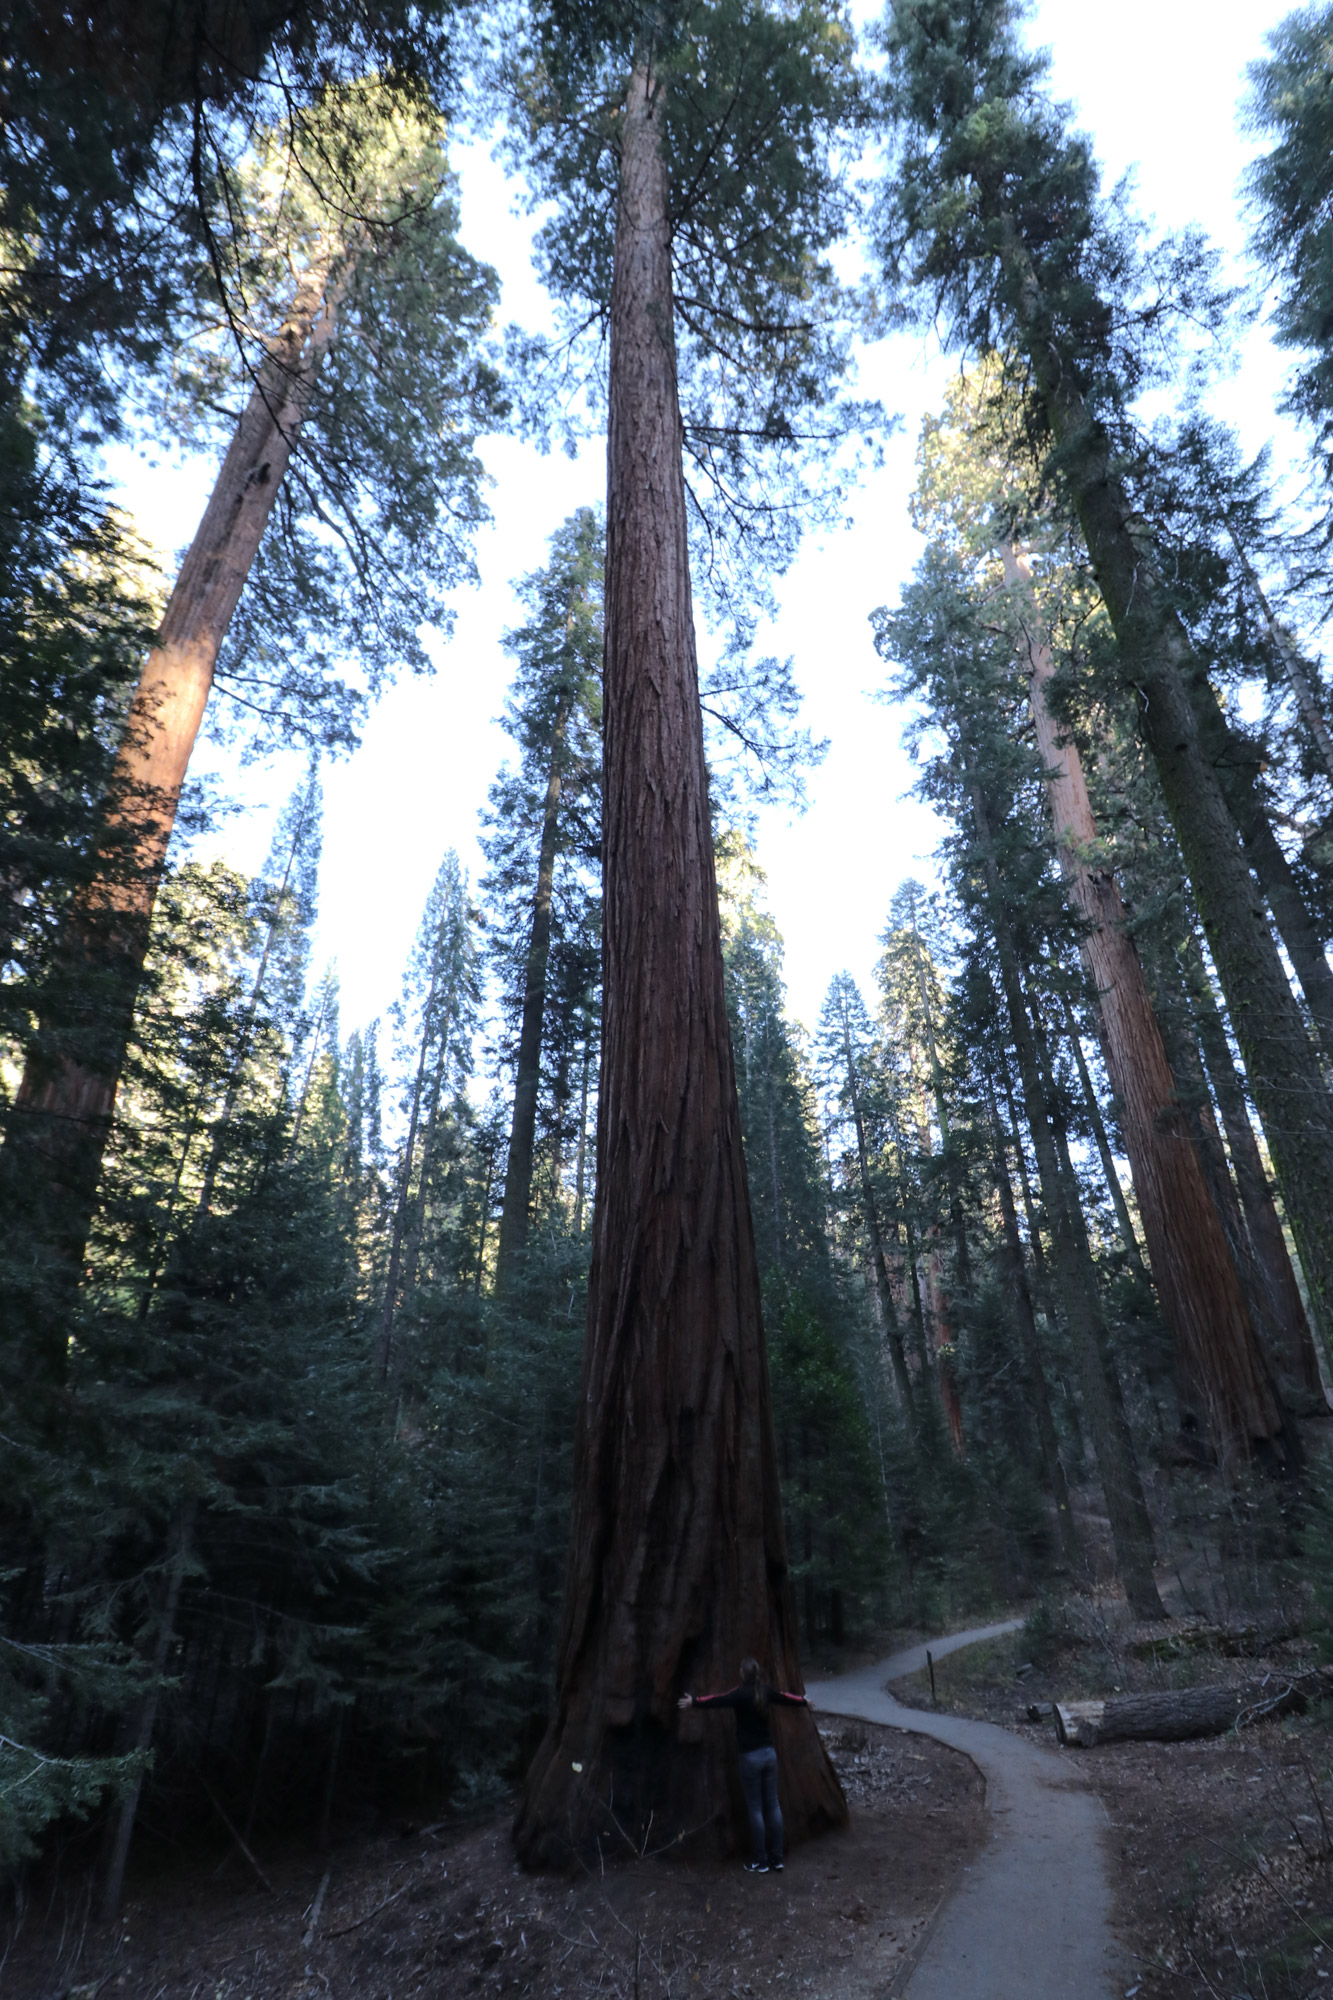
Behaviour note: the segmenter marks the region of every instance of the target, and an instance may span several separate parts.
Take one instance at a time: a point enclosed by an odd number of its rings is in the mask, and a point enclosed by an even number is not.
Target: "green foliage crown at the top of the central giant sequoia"
[[[506,26],[508,146],[532,200],[554,208],[538,256],[574,346],[606,322],[620,106],[630,68],[650,72],[697,572],[745,628],[763,574],[837,512],[833,454],[881,420],[841,396],[855,302],[831,250],[855,208],[839,148],[863,116],[851,28],[813,0],[594,12],[552,0]]]

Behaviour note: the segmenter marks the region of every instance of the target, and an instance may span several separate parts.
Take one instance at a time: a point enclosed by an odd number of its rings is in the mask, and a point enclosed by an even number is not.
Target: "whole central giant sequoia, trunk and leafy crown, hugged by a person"
[[[849,38],[825,8],[747,0],[622,16],[600,42],[590,22],[550,16],[522,76],[538,186],[562,198],[548,274],[608,330],[596,1208],[556,1708],[516,1822],[528,1862],[612,1828],[725,1836],[725,1766],[677,1696],[747,1652],[799,1686],[689,530],[695,502],[717,534],[731,518],[789,546],[763,456],[797,464],[801,434],[833,428],[821,258]],[[687,488],[685,450],[703,484]],[[793,1736],[793,1830],[841,1824],[813,1722]]]

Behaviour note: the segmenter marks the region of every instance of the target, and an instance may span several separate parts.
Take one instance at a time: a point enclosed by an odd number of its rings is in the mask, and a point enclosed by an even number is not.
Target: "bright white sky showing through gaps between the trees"
[[[1263,52],[1265,30],[1291,0],[1119,0],[1113,12],[1087,0],[1041,0],[1035,40],[1055,52],[1055,86],[1093,134],[1109,180],[1135,168],[1139,202],[1161,226],[1199,222],[1239,254],[1243,226],[1237,180],[1249,144],[1235,108],[1245,64]],[[861,14],[861,6],[857,8]],[[504,280],[502,316],[542,320],[530,274],[530,222],[516,216],[514,188],[476,146],[458,158],[462,236]],[[869,612],[893,602],[921,542],[907,520],[921,418],[943,400],[949,362],[923,336],[895,336],[869,350],[861,392],[901,412],[885,466],[853,502],[851,522],[811,542],[779,586],[781,612],[761,650],[793,654],[805,722],[831,738],[811,776],[809,810],[791,818],[765,810],[759,860],[769,904],[787,940],[793,1014],[815,1024],[829,980],[849,968],[871,986],[889,898],[907,874],[929,878],[939,838],[933,814],[907,796],[913,766],[903,716],[873,694],[883,668],[871,646]],[[1257,450],[1277,424],[1273,404],[1283,362],[1255,336],[1239,376],[1213,406]],[[480,588],[458,602],[438,672],[406,682],[378,704],[360,750],[324,774],[324,866],[316,966],[338,964],[342,1032],[364,1026],[394,1000],[420,910],[446,848],[476,876],[476,814],[508,738],[496,728],[510,662],[500,632],[514,622],[510,582],[546,558],[546,538],[564,516],[602,496],[600,442],[570,462],[538,456],[512,440],[486,446],[494,478],[492,526],[478,540]],[[198,520],[210,464],[156,466],[118,456],[122,502],[162,550],[176,550]],[[707,648],[707,638],[703,646]],[[246,800],[224,836],[210,842],[246,870],[262,864],[274,816],[300,776],[300,760],[278,756],[230,772]]]

